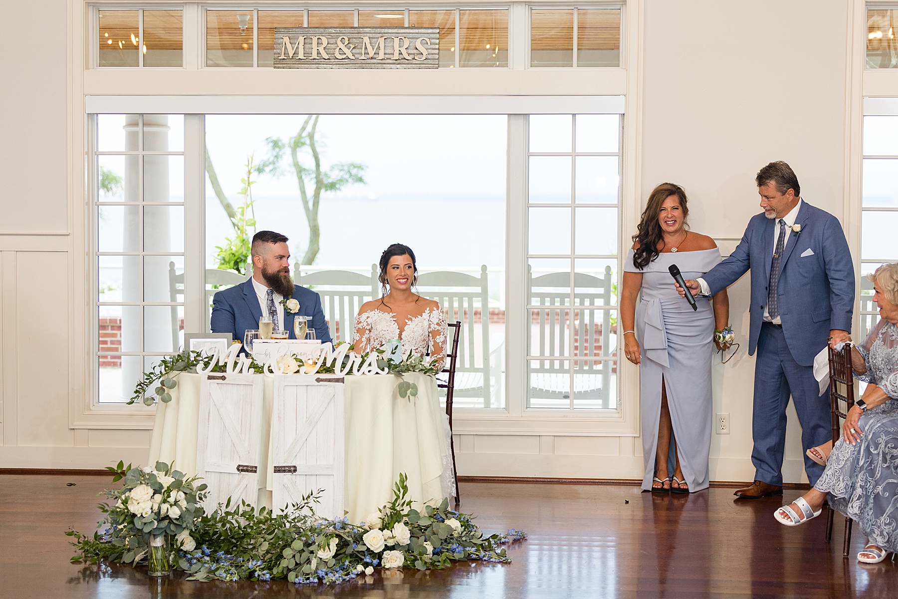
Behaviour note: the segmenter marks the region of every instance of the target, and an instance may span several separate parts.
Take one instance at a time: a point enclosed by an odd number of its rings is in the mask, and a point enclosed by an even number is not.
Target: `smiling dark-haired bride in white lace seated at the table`
[[[408,357],[409,351],[429,357],[436,370],[442,370],[446,318],[440,304],[411,290],[418,280],[415,252],[406,245],[393,243],[381,254],[380,268],[383,297],[366,302],[359,309],[354,351],[364,354],[391,339],[400,339],[403,357]]]

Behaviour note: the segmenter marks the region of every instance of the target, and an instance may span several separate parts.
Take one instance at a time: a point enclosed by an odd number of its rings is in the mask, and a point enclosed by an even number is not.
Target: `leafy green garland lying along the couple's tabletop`
[[[342,345],[344,344],[339,343],[337,347],[339,348]],[[350,345],[348,349],[351,351],[353,346]],[[358,359],[364,363],[372,353],[376,355],[376,364],[381,371],[387,374],[394,374],[400,378],[400,383],[397,386],[402,398],[418,396],[418,385],[406,381],[402,378],[403,374],[421,373],[434,376],[439,372],[436,370],[436,367],[432,366],[429,357],[414,356],[410,351],[407,357],[396,360],[392,356],[385,356],[386,351],[383,348],[378,348],[374,352],[362,354]],[[163,403],[172,401],[171,391],[178,386],[177,377],[179,374],[185,372],[196,374],[198,371],[225,372],[227,366],[224,364],[220,362],[212,364],[215,359],[215,356],[209,356],[203,351],[191,351],[189,349],[184,349],[179,354],[163,357],[153,368],[143,374],[143,378],[134,389],[134,394],[128,400],[128,405],[142,401],[145,405],[152,406],[156,401]],[[246,357],[246,359],[249,360],[247,372],[250,374],[265,372],[265,365],[260,364],[252,357]],[[319,360],[321,359],[323,358],[319,358]],[[295,354],[286,354],[285,356],[277,357],[273,366],[275,374],[334,374],[337,371],[345,370],[349,359],[351,358],[348,355],[344,355],[340,359],[340,364],[334,362],[330,365],[321,364],[321,366],[318,366],[318,362],[315,360],[304,360]],[[349,369],[347,374],[351,373],[352,370]]]

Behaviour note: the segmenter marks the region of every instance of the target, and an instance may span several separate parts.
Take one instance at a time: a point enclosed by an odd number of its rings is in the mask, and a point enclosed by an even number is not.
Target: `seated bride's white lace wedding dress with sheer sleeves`
[[[437,371],[443,370],[446,354],[446,317],[442,310],[437,308],[427,308],[424,313],[418,316],[409,316],[405,320],[405,328],[399,330],[399,322],[396,320],[395,313],[383,312],[383,310],[368,310],[359,313],[356,317],[356,331],[353,336],[353,344],[355,350],[359,354],[380,348],[390,339],[400,339],[402,344],[402,353],[404,356],[409,355],[409,351],[414,356],[429,357],[431,363],[436,367]],[[432,401],[439,401],[436,393],[436,382],[434,382],[434,392],[428,393]],[[409,398],[412,401],[418,401],[415,398]],[[405,400],[403,400],[405,401]],[[449,417],[445,411],[440,409],[439,404],[435,406],[442,414],[441,421],[443,426],[437,428],[436,434],[441,435],[440,447],[442,448],[443,473],[440,477],[440,488],[443,490],[444,498],[452,498],[455,496],[455,472],[453,471],[452,462],[452,430],[449,428]],[[427,498],[423,498],[427,499]]]

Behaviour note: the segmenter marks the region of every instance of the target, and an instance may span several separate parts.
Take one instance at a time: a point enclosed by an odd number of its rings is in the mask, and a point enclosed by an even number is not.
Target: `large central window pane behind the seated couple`
[[[351,342],[360,304],[381,296],[374,264],[404,243],[418,294],[462,322],[455,405],[504,408],[507,120],[207,115],[207,294],[247,277],[248,240],[276,230],[331,336]]]

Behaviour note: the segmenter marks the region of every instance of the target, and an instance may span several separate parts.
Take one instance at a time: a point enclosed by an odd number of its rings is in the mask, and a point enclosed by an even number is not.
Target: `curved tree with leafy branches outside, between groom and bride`
[[[281,163],[286,151],[290,153],[290,166],[296,175],[299,187],[300,203],[303,205],[305,221],[309,225],[309,244],[306,246],[300,264],[313,264],[321,249],[321,225],[318,222],[318,209],[321,206],[321,194],[339,191],[350,183],[365,184],[365,165],[359,163],[335,163],[327,171],[321,169],[321,139],[317,138],[318,119],[321,115],[309,115],[295,136],[285,140],[280,137],[268,137],[269,155],[259,165],[259,172],[270,172],[277,176],[282,173]],[[312,166],[306,166],[309,159]],[[306,187],[314,185],[312,197]]]

